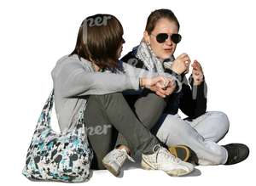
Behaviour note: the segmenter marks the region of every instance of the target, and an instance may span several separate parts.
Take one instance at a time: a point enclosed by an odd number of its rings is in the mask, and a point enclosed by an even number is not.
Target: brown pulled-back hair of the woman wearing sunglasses
[[[175,16],[175,14],[173,14],[172,10],[156,9],[148,16],[147,25],[145,29],[148,32],[148,34],[151,34],[151,32],[154,31],[154,27],[157,21],[162,18],[166,18],[168,20],[175,22],[175,24],[177,25],[177,30],[179,30],[179,23],[177,21],[177,17]]]

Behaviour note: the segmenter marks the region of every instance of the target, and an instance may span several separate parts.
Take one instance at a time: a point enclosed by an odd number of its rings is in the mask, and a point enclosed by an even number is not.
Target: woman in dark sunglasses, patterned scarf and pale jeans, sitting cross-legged
[[[247,158],[249,149],[244,144],[218,145],[229,130],[228,117],[219,111],[207,110],[207,84],[201,64],[194,61],[189,82],[185,76],[189,72],[188,54],[173,54],[182,37],[178,33],[179,23],[169,9],[158,9],[148,16],[143,41],[126,54],[122,61],[137,68],[157,73],[168,72],[183,82],[179,93],[172,93],[164,100],[165,114],[152,129],[160,141],[167,146],[184,144],[198,157],[200,165],[230,165]],[[126,96],[128,102],[137,96]],[[150,99],[146,94],[144,100]],[[147,105],[145,105],[146,107]],[[178,109],[188,116],[183,120],[177,115]]]

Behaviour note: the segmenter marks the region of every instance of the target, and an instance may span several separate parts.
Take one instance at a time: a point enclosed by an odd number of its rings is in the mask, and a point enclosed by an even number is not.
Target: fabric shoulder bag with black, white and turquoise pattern
[[[38,125],[27,150],[22,173],[31,180],[84,182],[90,179],[93,158],[84,130],[84,108],[73,131],[56,133],[50,127],[54,90],[44,104]]]

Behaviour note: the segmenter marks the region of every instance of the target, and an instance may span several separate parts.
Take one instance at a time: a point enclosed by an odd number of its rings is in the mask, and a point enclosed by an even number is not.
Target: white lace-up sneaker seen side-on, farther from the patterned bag
[[[160,145],[155,145],[153,150],[154,154],[143,155],[143,169],[161,170],[170,176],[183,176],[194,170],[192,164],[181,161]]]

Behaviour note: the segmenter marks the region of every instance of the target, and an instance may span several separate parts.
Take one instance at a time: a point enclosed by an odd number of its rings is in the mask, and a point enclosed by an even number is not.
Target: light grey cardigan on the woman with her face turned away
[[[59,59],[51,76],[55,89],[55,112],[61,132],[73,129],[78,120],[78,113],[86,106],[88,95],[102,95],[123,92],[125,90],[139,91],[139,77],[158,76],[148,70],[137,69],[123,63],[124,71],[114,73],[95,72],[90,61],[79,59],[78,55],[64,56]],[[177,81],[175,76],[165,74]],[[181,83],[178,82],[178,90]]]

